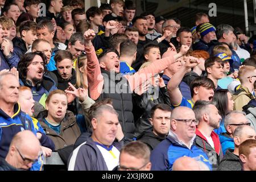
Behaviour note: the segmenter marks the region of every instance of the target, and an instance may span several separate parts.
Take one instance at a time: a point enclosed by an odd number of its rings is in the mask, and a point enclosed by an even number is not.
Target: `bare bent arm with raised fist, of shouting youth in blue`
[[[171,104],[173,106],[179,106],[182,101],[183,96],[180,92],[180,89],[178,88],[182,78],[190,68],[195,67],[197,64],[199,64],[199,60],[195,57],[189,56],[186,63],[179,69],[179,71],[174,74],[174,76],[172,76],[171,80],[168,82],[167,89]]]

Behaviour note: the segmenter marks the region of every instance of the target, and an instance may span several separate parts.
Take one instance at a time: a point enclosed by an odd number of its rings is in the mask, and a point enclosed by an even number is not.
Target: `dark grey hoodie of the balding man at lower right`
[[[239,157],[233,154],[233,150],[230,148],[226,150],[226,155],[218,165],[217,171],[242,171]]]

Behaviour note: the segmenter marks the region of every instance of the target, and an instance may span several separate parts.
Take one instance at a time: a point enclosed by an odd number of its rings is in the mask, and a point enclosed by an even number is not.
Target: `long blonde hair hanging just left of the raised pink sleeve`
[[[86,69],[86,65],[87,65],[87,57],[86,56],[82,56],[82,57],[78,57],[77,61],[76,61],[76,86],[77,87],[82,87],[84,89],[88,89],[88,80],[87,80],[87,69]],[[86,70],[84,73],[82,73],[80,71],[81,69]],[[85,77],[84,77],[85,74]]]

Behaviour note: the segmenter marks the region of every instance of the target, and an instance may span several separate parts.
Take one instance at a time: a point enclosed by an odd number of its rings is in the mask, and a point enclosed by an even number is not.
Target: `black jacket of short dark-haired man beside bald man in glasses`
[[[137,140],[146,143],[151,151],[164,139],[166,139],[166,137],[159,137],[155,135],[152,131],[144,131],[141,135],[137,137]]]

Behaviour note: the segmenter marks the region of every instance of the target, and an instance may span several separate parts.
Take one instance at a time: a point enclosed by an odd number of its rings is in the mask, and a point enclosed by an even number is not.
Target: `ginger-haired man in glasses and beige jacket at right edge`
[[[233,94],[234,110],[242,111],[242,107],[255,98],[254,82],[256,81],[256,68],[253,66],[243,66],[238,72],[241,82],[240,88]]]

